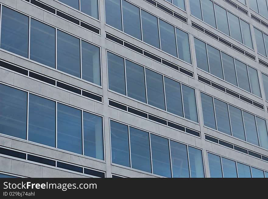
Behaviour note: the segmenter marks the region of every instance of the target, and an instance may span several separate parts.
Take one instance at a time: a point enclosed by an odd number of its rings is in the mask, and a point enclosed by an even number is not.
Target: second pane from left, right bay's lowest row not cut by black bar
[[[230,119],[227,103],[214,98],[217,129],[231,135]]]

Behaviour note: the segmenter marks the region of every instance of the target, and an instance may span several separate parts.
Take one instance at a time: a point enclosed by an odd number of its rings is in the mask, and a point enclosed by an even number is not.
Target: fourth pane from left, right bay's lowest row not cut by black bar
[[[247,142],[259,146],[255,116],[248,112],[243,111],[243,118],[244,118]]]

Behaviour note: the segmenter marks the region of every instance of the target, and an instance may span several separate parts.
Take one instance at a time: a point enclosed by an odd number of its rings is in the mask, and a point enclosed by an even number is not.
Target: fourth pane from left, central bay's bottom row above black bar
[[[170,153],[173,177],[190,177],[187,146],[170,141]]]

